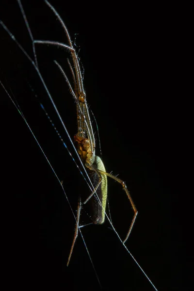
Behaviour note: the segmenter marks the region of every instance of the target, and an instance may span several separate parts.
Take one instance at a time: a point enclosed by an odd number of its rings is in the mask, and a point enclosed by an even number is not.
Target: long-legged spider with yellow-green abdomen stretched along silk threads
[[[73,60],[73,65],[71,65],[70,61],[67,59],[73,82],[74,82],[74,88],[72,88],[70,81],[68,80],[62,66],[58,64],[56,61],[55,64],[59,67],[60,71],[62,72],[68,86],[70,93],[72,97],[74,98],[77,106],[77,119],[78,119],[78,133],[74,136],[74,141],[78,144],[78,153],[81,157],[81,161],[83,162],[85,169],[87,173],[90,175],[90,179],[93,184],[93,192],[89,195],[89,197],[83,202],[83,204],[86,204],[89,200],[92,202],[93,207],[93,213],[92,213],[92,221],[94,224],[103,224],[105,220],[105,209],[106,209],[106,202],[107,202],[107,176],[110,178],[113,178],[115,181],[121,184],[123,187],[125,193],[127,194],[130,204],[132,206],[132,209],[134,211],[132,222],[129,226],[128,233],[126,235],[125,240],[123,243],[127,241],[129,238],[129,234],[131,232],[131,229],[134,225],[135,219],[137,217],[137,209],[133,203],[133,200],[129,194],[129,190],[126,186],[126,183],[113,176],[112,174],[109,174],[105,170],[105,166],[101,160],[100,157],[98,157],[95,153],[95,137],[92,129],[91,119],[89,115],[88,105],[86,101],[86,95],[83,88],[83,82],[82,82],[82,74],[81,74],[81,68],[78,61],[78,56],[76,53],[75,48],[72,45],[71,38],[69,36],[68,30],[65,26],[64,21],[62,20],[61,16],[57,13],[55,8],[47,1],[45,0],[46,4],[49,6],[49,8],[53,11],[57,19],[60,21],[67,40],[68,45],[56,42],[56,41],[47,41],[47,40],[34,40],[34,44],[47,44],[47,45],[53,45],[58,46],[61,48],[65,48],[69,50],[71,53],[71,57]],[[37,62],[37,61],[36,61]],[[81,197],[79,197],[79,203],[78,203],[78,212],[77,212],[77,224],[75,229],[75,234],[73,238],[73,242],[71,245],[70,254],[67,260],[67,266],[70,262],[71,255],[73,252],[73,248],[78,236],[78,229],[79,229],[79,221],[80,221],[80,215],[81,215]]]

